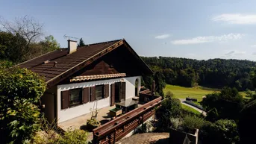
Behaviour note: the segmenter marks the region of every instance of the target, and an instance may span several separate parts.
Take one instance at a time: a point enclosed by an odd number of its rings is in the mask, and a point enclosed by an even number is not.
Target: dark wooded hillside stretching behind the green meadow
[[[183,87],[222,88],[236,87],[237,90],[254,90],[252,77],[256,63],[250,60],[193,60],[178,57],[141,57],[157,74],[156,83]],[[143,77],[145,83],[148,78]],[[160,82],[158,82],[160,81]]]

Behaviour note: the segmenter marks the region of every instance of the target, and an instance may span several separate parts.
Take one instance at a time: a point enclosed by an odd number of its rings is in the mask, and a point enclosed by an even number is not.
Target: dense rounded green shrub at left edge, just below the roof
[[[45,91],[46,84],[43,78],[28,69],[0,69],[0,96],[4,98],[1,101],[25,98],[37,103]]]

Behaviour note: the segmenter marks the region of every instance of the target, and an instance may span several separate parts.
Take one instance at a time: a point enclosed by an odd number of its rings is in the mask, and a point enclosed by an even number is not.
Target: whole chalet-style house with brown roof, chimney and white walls
[[[51,51],[19,64],[43,76],[47,83],[41,98],[50,121],[65,122],[138,96],[141,75],[152,71],[125,40],[113,40]]]

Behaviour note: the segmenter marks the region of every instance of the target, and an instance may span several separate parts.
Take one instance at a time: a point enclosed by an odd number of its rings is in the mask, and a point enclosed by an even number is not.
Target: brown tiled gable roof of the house
[[[37,72],[37,74],[46,79],[46,83],[48,85],[49,83],[56,84],[57,78],[59,79],[58,81],[63,80],[63,78],[67,78],[82,67],[87,66],[92,61],[96,60],[98,57],[102,57],[102,55],[107,54],[109,51],[112,51],[114,48],[117,48],[122,44],[129,46],[125,40],[113,40],[78,47],[78,50],[72,54],[69,54],[68,48],[60,48],[60,50],[51,51],[47,54],[41,55],[40,57],[35,57],[34,59],[20,63],[17,66]],[[134,50],[131,49],[131,51]],[[137,55],[137,57],[139,56]],[[49,62],[46,62],[47,60],[49,60]],[[54,62],[57,62],[57,66],[55,67]],[[148,66],[146,67],[148,71],[152,72]]]

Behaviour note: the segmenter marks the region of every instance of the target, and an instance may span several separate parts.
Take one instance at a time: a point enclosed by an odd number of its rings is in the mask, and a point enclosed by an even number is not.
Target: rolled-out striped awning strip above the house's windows
[[[72,81],[88,81],[88,80],[97,80],[102,78],[119,78],[125,77],[125,73],[118,73],[118,74],[107,74],[107,75],[84,75],[84,76],[77,76],[75,78],[70,79]]]

